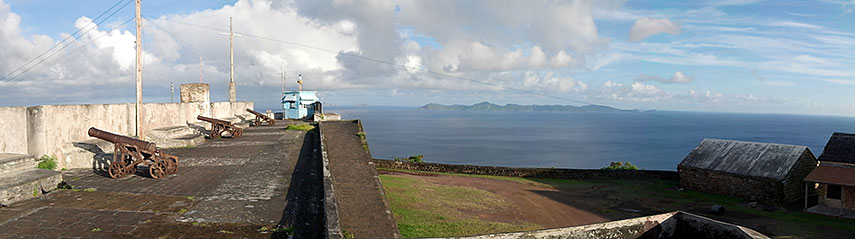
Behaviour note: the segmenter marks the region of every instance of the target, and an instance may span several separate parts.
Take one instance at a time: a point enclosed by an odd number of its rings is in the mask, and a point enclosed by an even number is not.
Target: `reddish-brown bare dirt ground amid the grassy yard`
[[[545,228],[568,227],[609,221],[589,212],[583,205],[568,205],[544,197],[542,192],[559,193],[558,190],[534,184],[504,180],[438,175],[416,172],[380,171],[381,174],[395,175],[440,185],[473,187],[498,194],[515,207],[498,213],[480,214],[482,220],[507,223],[529,222]]]

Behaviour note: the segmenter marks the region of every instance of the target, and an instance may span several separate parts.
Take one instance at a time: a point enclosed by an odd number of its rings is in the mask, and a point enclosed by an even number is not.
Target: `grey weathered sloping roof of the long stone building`
[[[695,168],[782,180],[807,146],[723,139],[704,139],[679,168]]]

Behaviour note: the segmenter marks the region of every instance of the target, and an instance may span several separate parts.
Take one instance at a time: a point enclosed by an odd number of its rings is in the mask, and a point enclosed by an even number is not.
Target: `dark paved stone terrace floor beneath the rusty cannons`
[[[65,171],[74,189],[0,208],[0,238],[322,237],[317,135],[285,125],[166,149],[181,166],[158,180]]]

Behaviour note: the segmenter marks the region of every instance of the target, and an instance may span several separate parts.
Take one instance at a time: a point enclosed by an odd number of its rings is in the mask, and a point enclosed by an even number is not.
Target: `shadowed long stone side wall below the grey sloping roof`
[[[783,200],[783,184],[772,179],[693,168],[678,168],[677,170],[680,172],[680,186],[689,190],[732,195],[747,200],[769,203],[780,203]],[[804,188],[802,190],[804,192]],[[801,197],[804,197],[804,194]]]

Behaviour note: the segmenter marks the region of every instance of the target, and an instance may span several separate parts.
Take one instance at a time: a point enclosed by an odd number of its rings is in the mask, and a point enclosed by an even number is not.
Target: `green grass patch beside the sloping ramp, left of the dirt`
[[[463,236],[535,230],[535,224],[485,221],[476,213],[502,210],[511,203],[494,193],[380,175],[403,237]],[[469,212],[469,213],[467,213]]]

